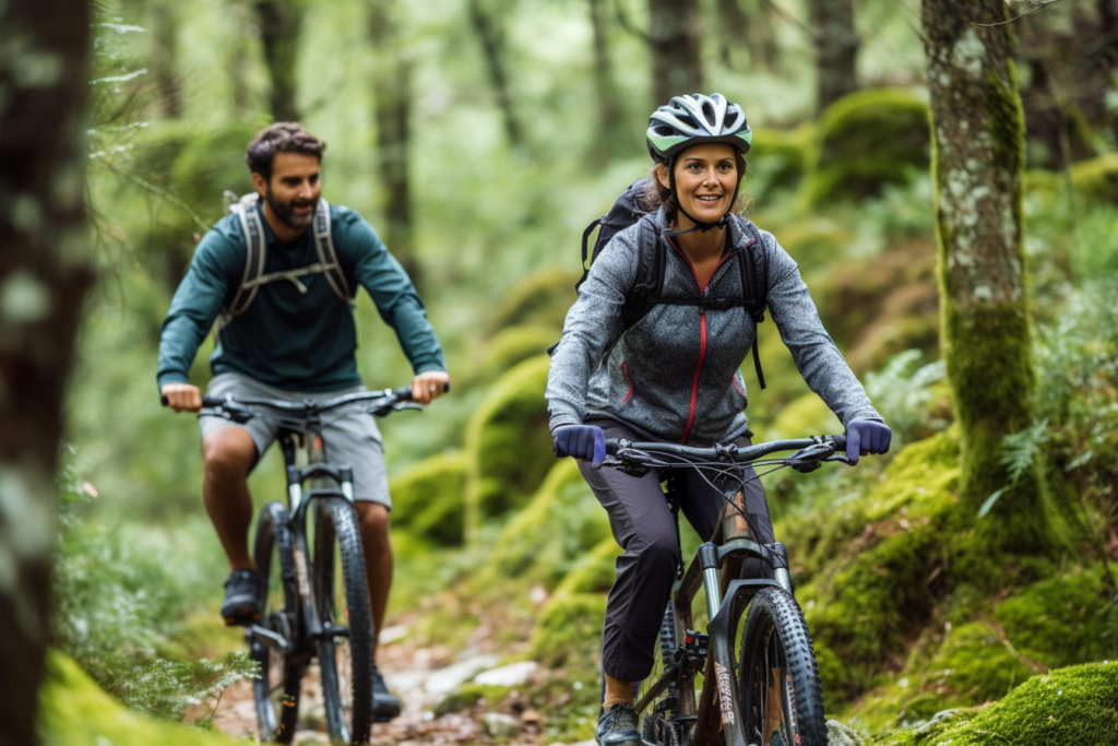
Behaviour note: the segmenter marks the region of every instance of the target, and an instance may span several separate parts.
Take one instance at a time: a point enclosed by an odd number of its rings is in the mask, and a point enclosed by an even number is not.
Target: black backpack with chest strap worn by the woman
[[[636,283],[622,306],[622,319],[625,329],[631,328],[644,318],[656,305],[701,305],[710,310],[728,311],[740,308],[759,324],[765,321],[766,298],[768,296],[768,262],[765,254],[765,243],[757,233],[756,226],[745,218],[733,216],[738,227],[748,236],[738,266],[741,271],[742,298],[667,298],[660,293],[664,286],[664,267],[666,263],[666,240],[655,236],[654,213],[645,209],[641,199],[643,181],[635,181],[617,198],[609,211],[597,218],[582,232],[582,278],[575,284],[577,291],[586,282],[590,273],[589,266],[598,258],[598,254],[609,240],[629,226],[642,223],[642,229],[650,232],[646,240],[639,242],[644,251],[637,257]],[[594,242],[594,251],[589,252],[590,264],[587,264],[590,235],[598,228],[598,237]],[[555,348],[552,348],[553,350]],[[754,367],[757,380],[765,388],[765,375],[761,372],[761,359],[757,351],[757,338],[754,338]]]

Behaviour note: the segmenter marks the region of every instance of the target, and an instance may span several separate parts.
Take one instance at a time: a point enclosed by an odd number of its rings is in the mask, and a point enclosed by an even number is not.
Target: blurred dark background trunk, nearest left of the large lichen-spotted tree
[[[822,112],[847,93],[858,91],[859,38],[854,32],[854,1],[812,0],[812,30],[815,35],[815,106]]]

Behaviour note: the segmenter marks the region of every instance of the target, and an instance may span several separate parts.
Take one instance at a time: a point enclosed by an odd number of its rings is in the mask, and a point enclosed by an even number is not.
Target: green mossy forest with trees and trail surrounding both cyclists
[[[273,122],[326,142],[323,197],[452,379],[378,423],[404,714],[371,743],[593,746],[622,549],[552,453],[547,349],[648,115],[693,92],[741,104],[748,217],[892,428],[762,480],[830,743],[1118,744],[1115,0],[0,0],[0,746],[257,738],[197,419],[155,369]],[[353,314],[364,384],[408,384]],[[771,319],[758,342],[755,441],[842,433]],[[284,500],[277,448],[248,484]],[[330,743],[316,681],[292,743]]]

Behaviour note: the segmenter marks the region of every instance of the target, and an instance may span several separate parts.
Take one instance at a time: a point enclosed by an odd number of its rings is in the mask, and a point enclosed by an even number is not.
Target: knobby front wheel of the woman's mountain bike
[[[767,587],[754,596],[738,660],[747,744],[826,746],[812,639],[799,606],[783,588]]]

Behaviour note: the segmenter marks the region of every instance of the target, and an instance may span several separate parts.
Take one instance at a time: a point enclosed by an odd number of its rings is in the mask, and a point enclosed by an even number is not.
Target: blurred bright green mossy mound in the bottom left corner
[[[39,690],[39,736],[47,746],[222,746],[218,734],[145,718],[105,693],[77,663],[50,651]]]

